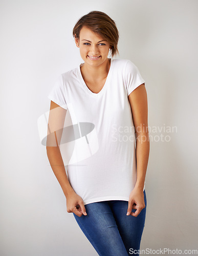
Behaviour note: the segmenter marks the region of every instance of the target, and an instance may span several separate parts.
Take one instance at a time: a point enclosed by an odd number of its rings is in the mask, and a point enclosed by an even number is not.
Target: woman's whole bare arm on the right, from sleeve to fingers
[[[137,181],[129,197],[129,214],[137,217],[145,207],[144,181],[149,157],[148,106],[144,83],[128,95],[136,133]],[[135,205],[134,205],[135,204]],[[137,209],[131,212],[131,209]],[[131,212],[131,213],[130,213]]]

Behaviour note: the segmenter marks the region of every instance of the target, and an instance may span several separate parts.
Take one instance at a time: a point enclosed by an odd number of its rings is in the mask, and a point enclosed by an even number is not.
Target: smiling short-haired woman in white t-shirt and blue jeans
[[[104,12],[82,16],[73,36],[84,62],[61,74],[48,95],[55,146],[48,139],[47,155],[67,211],[98,254],[139,255],[149,156],[145,81],[130,60],[108,58],[109,51],[112,57],[118,53],[119,33]],[[76,139],[68,174],[57,133],[67,111]]]

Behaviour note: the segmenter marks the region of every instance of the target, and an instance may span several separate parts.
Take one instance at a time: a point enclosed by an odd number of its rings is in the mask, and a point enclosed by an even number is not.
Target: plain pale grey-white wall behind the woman
[[[152,131],[141,249],[197,249],[197,1],[21,0],[2,1],[0,13],[3,256],[97,255],[67,212],[37,128],[58,75],[83,62],[72,29],[92,10],[115,20],[116,58],[133,61],[146,81]]]

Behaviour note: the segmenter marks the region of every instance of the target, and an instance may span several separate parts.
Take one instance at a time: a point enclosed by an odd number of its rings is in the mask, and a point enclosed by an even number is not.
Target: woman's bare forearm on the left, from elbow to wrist
[[[46,150],[47,150],[47,156],[48,156],[50,165],[52,167],[52,170],[54,172],[54,175],[56,176],[65,197],[68,197],[68,195],[74,190],[70,185],[68,176],[65,172],[60,149],[58,146],[47,146]]]

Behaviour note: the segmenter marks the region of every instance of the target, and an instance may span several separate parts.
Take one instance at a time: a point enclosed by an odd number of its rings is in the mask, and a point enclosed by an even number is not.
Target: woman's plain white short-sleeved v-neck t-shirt
[[[128,59],[111,59],[102,90],[93,93],[80,67],[61,74],[48,98],[67,109],[76,131],[68,179],[83,203],[129,200],[137,179],[136,141],[128,95],[145,83]],[[145,188],[145,186],[144,186]],[[144,190],[144,189],[143,189]]]

